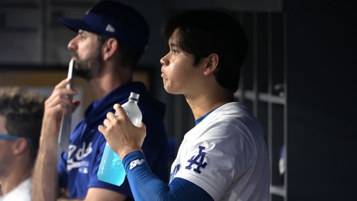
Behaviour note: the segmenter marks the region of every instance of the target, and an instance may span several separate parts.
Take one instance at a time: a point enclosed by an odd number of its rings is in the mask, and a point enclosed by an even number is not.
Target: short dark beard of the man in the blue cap
[[[79,76],[87,81],[90,81],[102,70],[103,60],[99,47],[95,50],[93,55],[86,60],[80,60],[78,53],[75,51],[72,51],[72,55],[76,58],[73,68],[75,76]]]

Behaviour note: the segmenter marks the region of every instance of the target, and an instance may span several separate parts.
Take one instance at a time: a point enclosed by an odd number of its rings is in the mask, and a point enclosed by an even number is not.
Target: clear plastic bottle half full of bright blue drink
[[[129,117],[131,123],[135,126],[139,126],[142,119],[142,114],[137,106],[138,101],[139,94],[131,92],[129,100],[121,106],[125,110],[125,113]],[[117,112],[115,115],[117,116]],[[125,179],[125,169],[122,164],[122,160],[109,146],[108,142],[104,148],[97,176],[99,180],[117,186],[120,186]]]

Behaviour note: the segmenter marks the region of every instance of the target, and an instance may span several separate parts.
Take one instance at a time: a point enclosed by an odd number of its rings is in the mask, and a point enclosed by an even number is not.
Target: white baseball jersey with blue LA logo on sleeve
[[[262,128],[238,102],[227,103],[184,135],[171,167],[215,201],[269,201],[270,164]]]

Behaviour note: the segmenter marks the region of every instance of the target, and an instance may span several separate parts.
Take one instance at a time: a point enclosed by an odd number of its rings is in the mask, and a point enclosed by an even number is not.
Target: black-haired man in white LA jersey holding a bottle
[[[99,131],[123,159],[135,200],[268,201],[269,155],[258,121],[234,99],[247,39],[238,21],[218,10],[191,10],[165,24],[169,53],[160,62],[164,88],[183,94],[196,126],[184,135],[169,185],[155,177],[135,127],[116,104]]]

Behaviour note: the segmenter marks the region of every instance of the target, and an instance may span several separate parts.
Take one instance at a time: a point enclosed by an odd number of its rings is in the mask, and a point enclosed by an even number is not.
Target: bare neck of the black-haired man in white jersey
[[[206,90],[192,96],[185,96],[195,119],[211,110],[234,101],[234,94],[227,89]]]

